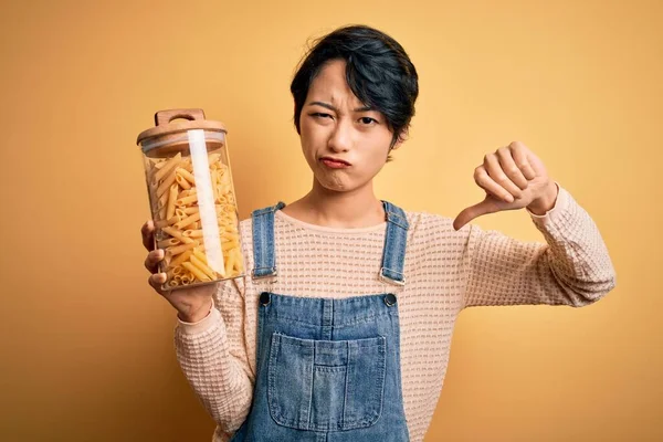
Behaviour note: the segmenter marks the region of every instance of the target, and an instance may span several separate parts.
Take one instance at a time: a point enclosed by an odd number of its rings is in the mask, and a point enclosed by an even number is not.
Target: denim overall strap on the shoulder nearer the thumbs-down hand
[[[380,278],[397,285],[406,284],[403,265],[406,262],[406,245],[410,224],[406,212],[388,201],[382,201],[387,213],[387,233],[382,251],[382,267]]]

